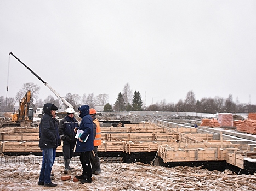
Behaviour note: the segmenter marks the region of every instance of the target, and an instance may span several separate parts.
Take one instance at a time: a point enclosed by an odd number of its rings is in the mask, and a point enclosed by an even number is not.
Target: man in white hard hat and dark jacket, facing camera
[[[75,110],[73,108],[67,108],[67,116],[64,117],[59,123],[59,135],[63,141],[63,156],[64,156],[64,173],[67,174],[69,170],[72,170],[69,166],[70,159],[73,157],[74,148],[76,145],[75,128],[79,127],[78,121],[75,119]]]

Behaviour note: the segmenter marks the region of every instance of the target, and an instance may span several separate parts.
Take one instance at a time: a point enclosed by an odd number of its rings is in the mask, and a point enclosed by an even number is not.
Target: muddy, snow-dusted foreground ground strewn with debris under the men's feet
[[[75,170],[69,172],[71,179],[67,181],[61,180],[64,175],[62,157],[56,157],[52,172],[53,182],[58,186],[47,188],[37,185],[41,162],[3,163],[3,157],[0,190],[256,190],[256,175],[236,175],[229,170],[208,171],[202,167],[166,168],[143,163],[106,163],[104,160],[101,160],[102,174],[93,175],[92,183],[81,184],[72,179],[81,174],[78,157],[71,162]]]

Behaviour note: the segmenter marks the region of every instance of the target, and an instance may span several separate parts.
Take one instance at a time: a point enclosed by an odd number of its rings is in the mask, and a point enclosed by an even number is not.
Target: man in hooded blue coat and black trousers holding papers
[[[89,115],[90,108],[88,105],[82,105],[78,108],[79,117],[82,121],[79,126],[79,130],[83,130],[82,135],[77,139],[75,152],[80,153],[80,162],[82,164],[82,175],[75,177],[80,180],[81,183],[92,183],[92,167],[90,165],[90,153],[93,151],[93,121]]]

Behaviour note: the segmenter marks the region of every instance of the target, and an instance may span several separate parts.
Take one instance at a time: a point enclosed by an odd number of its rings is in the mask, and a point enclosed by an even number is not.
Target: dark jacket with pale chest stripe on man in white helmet
[[[59,123],[59,135],[60,139],[63,141],[76,142],[75,128],[78,128],[79,124],[75,117],[71,118],[69,116],[64,117]]]

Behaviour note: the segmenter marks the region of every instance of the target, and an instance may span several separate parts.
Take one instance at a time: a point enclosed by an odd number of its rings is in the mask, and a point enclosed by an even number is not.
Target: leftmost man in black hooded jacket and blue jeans
[[[50,174],[54,162],[56,148],[60,146],[60,136],[58,133],[58,122],[55,119],[55,112],[58,108],[51,103],[44,104],[44,115],[39,124],[39,147],[43,150],[43,162],[40,171],[38,185],[45,187],[55,187]]]

